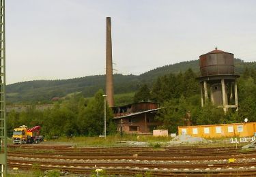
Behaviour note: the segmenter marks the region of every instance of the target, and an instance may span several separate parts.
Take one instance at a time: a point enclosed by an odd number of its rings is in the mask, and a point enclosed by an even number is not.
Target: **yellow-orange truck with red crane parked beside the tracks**
[[[32,127],[28,129],[27,126],[22,125],[15,128],[12,134],[12,140],[14,144],[30,144],[40,143],[44,140],[43,136],[40,135],[40,126]]]

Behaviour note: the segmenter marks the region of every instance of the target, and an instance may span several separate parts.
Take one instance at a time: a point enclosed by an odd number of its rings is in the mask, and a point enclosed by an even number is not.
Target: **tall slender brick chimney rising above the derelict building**
[[[106,17],[106,101],[114,106],[111,18]]]

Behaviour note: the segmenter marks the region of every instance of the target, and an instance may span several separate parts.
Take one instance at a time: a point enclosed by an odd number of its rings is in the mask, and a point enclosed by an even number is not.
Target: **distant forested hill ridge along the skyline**
[[[241,74],[245,67],[256,68],[256,62],[246,63],[235,60],[236,73]],[[184,72],[188,68],[199,72],[199,60],[166,65],[147,71],[139,76],[114,75],[115,94],[137,91],[142,82],[152,83],[159,76]],[[18,82],[7,86],[8,103],[49,103],[53,97],[65,97],[70,93],[82,93],[84,97],[93,96],[100,88],[104,89],[104,75],[86,76],[68,80],[35,80]]]

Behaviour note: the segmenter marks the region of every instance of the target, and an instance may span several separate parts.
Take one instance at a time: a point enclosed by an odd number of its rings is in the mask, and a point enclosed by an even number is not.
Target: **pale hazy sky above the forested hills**
[[[256,61],[256,1],[5,1],[6,82],[104,74],[106,16],[114,73],[142,74],[214,50]]]

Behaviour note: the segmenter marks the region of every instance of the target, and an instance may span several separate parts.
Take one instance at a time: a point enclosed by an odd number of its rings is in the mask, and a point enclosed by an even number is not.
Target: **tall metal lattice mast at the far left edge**
[[[0,0],[0,175],[7,176],[5,112],[5,0]]]

